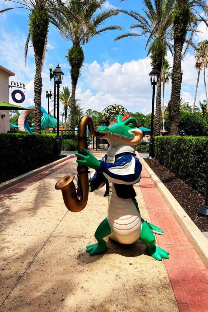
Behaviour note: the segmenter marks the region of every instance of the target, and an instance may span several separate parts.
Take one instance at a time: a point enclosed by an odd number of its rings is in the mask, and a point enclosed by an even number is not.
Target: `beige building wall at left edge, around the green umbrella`
[[[0,101],[9,102],[9,77],[14,75],[12,71],[0,65]],[[6,116],[2,118],[3,113],[6,113]],[[9,110],[0,110],[0,132],[7,131],[9,131]]]

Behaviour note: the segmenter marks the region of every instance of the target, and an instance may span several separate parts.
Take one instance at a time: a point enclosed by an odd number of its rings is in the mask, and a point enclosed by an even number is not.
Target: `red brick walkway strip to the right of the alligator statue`
[[[157,241],[170,252],[164,262],[180,312],[207,312],[208,270],[145,168],[139,185],[151,222],[165,232],[164,236],[157,235]]]

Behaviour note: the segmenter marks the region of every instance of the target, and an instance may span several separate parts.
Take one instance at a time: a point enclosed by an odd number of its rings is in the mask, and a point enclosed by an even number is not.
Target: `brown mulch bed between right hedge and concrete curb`
[[[197,209],[205,204],[205,197],[178,178],[165,166],[162,166],[156,158],[152,160],[145,159],[145,161],[176,198],[200,231],[208,231],[208,218],[198,217],[196,214]]]

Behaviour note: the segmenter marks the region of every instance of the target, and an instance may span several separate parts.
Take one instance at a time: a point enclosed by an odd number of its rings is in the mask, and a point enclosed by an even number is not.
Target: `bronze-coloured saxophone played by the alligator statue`
[[[83,154],[81,148],[87,149],[86,128],[88,125],[89,133],[98,136],[99,132],[94,129],[92,119],[85,115],[82,116],[78,128],[78,153]],[[79,159],[79,158],[78,158]],[[77,190],[73,182],[75,176],[73,174],[65,175],[55,185],[56,190],[61,190],[65,206],[72,212],[83,210],[88,201],[89,193],[89,177],[88,167],[78,164],[77,166]]]

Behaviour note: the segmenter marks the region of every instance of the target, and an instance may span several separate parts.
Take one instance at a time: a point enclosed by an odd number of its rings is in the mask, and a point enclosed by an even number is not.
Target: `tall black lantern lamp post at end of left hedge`
[[[51,73],[52,68],[49,68],[49,69],[50,69],[50,77],[54,78],[54,83],[57,86],[57,137],[56,137],[56,144],[57,144],[58,156],[61,156],[61,144],[60,144],[61,142],[60,142],[60,136],[59,136],[59,90],[60,90],[60,84],[62,83],[62,80],[63,80],[64,73],[61,71],[59,64],[56,66],[55,70],[53,71],[53,74]],[[54,99],[55,99],[55,95],[54,95]]]

